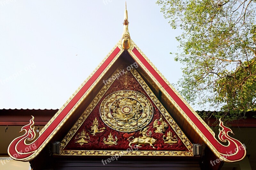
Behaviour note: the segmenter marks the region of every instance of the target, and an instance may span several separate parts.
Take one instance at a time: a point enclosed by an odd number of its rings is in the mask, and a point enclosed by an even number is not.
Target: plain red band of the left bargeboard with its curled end
[[[100,68],[92,75],[92,77],[85,83],[85,85],[80,89],[79,92],[74,96],[74,98],[68,103],[68,105],[60,112],[60,114],[54,119],[54,121],[45,129],[45,131],[39,136],[35,142],[33,142],[30,145],[25,145],[24,141],[27,137],[21,136],[12,141],[12,143],[9,145],[8,151],[10,156],[13,157],[13,159],[26,159],[29,156],[31,156],[34,152],[36,152],[36,149],[38,149],[42,144],[44,144],[45,140],[51,135],[51,133],[56,129],[56,127],[60,124],[60,122],[63,121],[66,115],[68,115],[69,111],[76,105],[76,103],[82,98],[85,92],[88,91],[88,89],[92,86],[92,84],[95,82],[97,78],[99,78],[100,74],[107,68],[107,66],[113,61],[113,59],[116,57],[116,55],[121,50],[116,47],[116,49],[109,55],[109,57],[106,59],[106,61],[100,66]],[[25,127],[24,129],[29,130],[29,127]],[[26,135],[26,134],[25,134]],[[32,147],[33,144],[36,144],[35,147]],[[25,148],[29,148],[28,152],[24,154],[18,154],[15,149],[17,149],[19,152],[24,152]],[[34,149],[36,148],[36,149]],[[23,150],[23,151],[22,151]]]

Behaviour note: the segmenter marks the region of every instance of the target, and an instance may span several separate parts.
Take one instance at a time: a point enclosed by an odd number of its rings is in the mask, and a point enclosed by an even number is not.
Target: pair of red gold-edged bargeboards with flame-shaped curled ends
[[[21,131],[25,131],[25,134],[14,139],[8,147],[8,153],[13,159],[30,161],[42,151],[46,144],[50,142],[52,137],[68,121],[68,118],[74,113],[76,108],[79,107],[95,85],[99,83],[100,79],[124,52],[121,41],[122,40],[117,43],[86,81],[84,81],[63,107],[61,107],[53,118],[45,125],[40,131],[39,137],[36,138],[34,142],[31,144],[27,144],[26,142],[26,139],[33,140],[35,138],[35,131],[34,128],[32,128],[34,123],[33,118],[28,125],[21,129]],[[222,129],[220,130],[218,137],[220,141],[228,142],[228,145],[225,146],[215,138],[215,134],[210,127],[196,114],[193,108],[188,105],[132,40],[131,47],[127,51],[216,156],[227,162],[239,161],[244,158],[246,154],[244,146],[228,135],[228,132],[232,133],[231,129],[225,127],[220,121],[220,127]]]

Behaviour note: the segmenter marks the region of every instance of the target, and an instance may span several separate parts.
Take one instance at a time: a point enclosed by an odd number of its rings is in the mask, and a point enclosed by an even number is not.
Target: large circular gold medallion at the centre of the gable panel
[[[100,105],[100,116],[110,128],[133,132],[144,128],[153,117],[153,107],[146,96],[132,90],[108,95]]]

